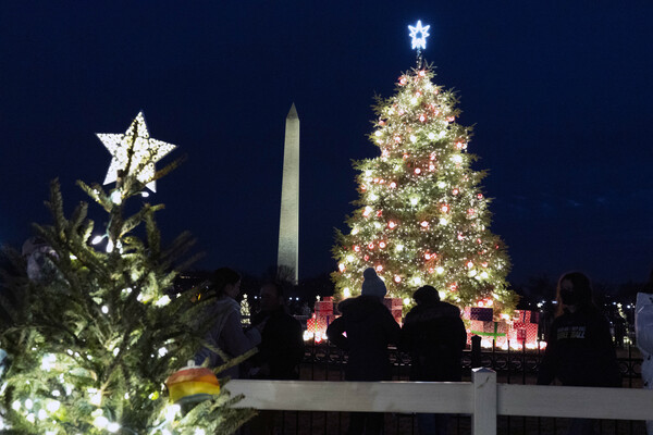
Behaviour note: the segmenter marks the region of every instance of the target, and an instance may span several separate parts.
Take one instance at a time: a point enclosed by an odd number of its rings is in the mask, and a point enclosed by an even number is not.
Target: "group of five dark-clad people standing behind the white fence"
[[[214,323],[205,337],[206,346],[196,355],[196,363],[217,368],[256,347],[255,357],[238,365],[227,363],[222,375],[297,380],[304,356],[303,328],[288,313],[283,287],[273,282],[261,286],[260,311],[244,328],[236,301],[239,275],[231,269],[219,269],[212,284],[210,297],[214,300],[208,304],[207,319]],[[401,327],[383,303],[385,295],[383,281],[373,269],[367,269],[361,295],[340,302],[342,315],[326,330],[331,343],[348,353],[345,380],[392,380],[389,345],[396,345],[410,355],[411,381],[460,382],[460,358],[467,343],[460,310],[440,300],[434,287],[423,286],[415,291],[416,304]],[[549,385],[557,380],[567,386],[620,386],[609,323],[592,301],[590,279],[579,272],[564,274],[557,284],[556,299],[558,312],[549,328],[538,384]],[[272,413],[262,412],[251,423],[251,433],[272,433],[273,418]],[[419,433],[447,434],[449,420],[446,414],[418,414]],[[572,420],[568,433],[592,434],[593,423]],[[381,434],[382,426],[381,413],[353,412],[347,434]]]

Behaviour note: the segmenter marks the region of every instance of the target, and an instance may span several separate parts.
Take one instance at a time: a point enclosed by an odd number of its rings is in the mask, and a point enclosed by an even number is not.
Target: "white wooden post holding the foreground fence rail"
[[[472,435],[496,435],[496,373],[493,370],[472,369],[473,415]]]

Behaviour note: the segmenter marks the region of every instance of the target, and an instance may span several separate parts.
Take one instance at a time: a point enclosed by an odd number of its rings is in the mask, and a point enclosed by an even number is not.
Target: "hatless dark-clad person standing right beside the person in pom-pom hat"
[[[410,355],[410,381],[460,382],[460,358],[467,344],[460,310],[440,300],[432,286],[412,295],[417,306],[406,314],[399,348]],[[448,414],[417,414],[420,435],[445,435]]]

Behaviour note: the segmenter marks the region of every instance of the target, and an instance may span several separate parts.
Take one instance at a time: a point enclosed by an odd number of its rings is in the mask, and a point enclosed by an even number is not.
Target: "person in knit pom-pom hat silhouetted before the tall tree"
[[[326,328],[326,336],[349,353],[346,381],[390,381],[392,371],[387,345],[399,339],[399,325],[383,304],[386,289],[372,268],[364,272],[361,295],[338,304],[342,316]],[[382,413],[353,412],[347,435],[380,434]]]

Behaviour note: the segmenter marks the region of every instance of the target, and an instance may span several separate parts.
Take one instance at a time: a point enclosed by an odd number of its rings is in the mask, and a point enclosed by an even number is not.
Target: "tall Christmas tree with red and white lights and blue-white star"
[[[392,98],[375,105],[370,140],[380,156],[355,162],[360,197],[346,221],[349,233],[336,235],[336,291],[358,294],[362,271],[371,266],[391,297],[407,299],[432,285],[459,307],[510,311],[510,262],[489,228],[489,199],[480,186],[485,173],[471,167],[471,128],[456,122],[456,95],[433,84],[433,70],[421,60],[427,30],[419,22],[411,27],[418,64],[399,77]]]

